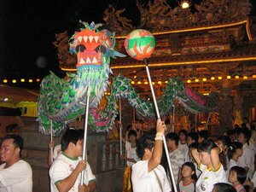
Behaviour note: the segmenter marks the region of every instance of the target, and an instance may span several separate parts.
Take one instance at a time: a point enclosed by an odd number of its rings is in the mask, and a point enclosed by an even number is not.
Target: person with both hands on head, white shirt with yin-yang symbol
[[[221,149],[211,140],[203,141],[199,147],[192,150],[192,155],[201,170],[201,176],[195,184],[197,192],[212,192],[215,183],[227,183],[224,166],[220,162]]]

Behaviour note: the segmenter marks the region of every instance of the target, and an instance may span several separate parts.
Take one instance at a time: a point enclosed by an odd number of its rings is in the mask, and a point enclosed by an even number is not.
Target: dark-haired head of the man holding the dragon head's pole
[[[83,154],[84,130],[68,129],[61,138],[61,151],[77,158]]]

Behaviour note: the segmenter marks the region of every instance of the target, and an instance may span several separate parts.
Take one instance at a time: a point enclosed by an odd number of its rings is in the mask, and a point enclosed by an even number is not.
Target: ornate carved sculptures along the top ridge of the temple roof
[[[209,26],[224,24],[242,19],[247,19],[251,11],[249,0],[203,0],[195,4],[195,9],[173,8],[166,0],[148,1],[142,4],[137,0],[137,8],[140,11],[140,25],[150,31],[163,31],[183,29],[195,26]],[[131,31],[131,20],[120,16],[125,9],[115,10],[109,5],[104,11],[104,20],[113,26],[118,33]]]

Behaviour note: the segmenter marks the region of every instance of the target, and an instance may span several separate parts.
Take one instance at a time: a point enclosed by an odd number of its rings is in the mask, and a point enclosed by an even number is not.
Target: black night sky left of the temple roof
[[[143,0],[145,1],[145,0]],[[198,2],[193,1],[193,2]],[[177,1],[169,1],[177,5]],[[175,2],[175,3],[173,3]],[[252,1],[255,6],[255,1]],[[79,20],[103,22],[108,4],[126,9],[125,16],[138,26],[136,0],[1,0],[0,1],[0,81],[4,78],[38,77],[49,70],[61,76],[55,33],[74,32]]]

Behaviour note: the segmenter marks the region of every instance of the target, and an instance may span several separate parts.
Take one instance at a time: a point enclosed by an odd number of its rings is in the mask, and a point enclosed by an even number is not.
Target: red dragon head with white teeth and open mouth
[[[83,26],[80,32],[75,32],[69,39],[70,52],[77,54],[77,69],[84,71],[86,69],[98,69],[104,63],[110,62],[110,56],[125,56],[115,51],[114,33],[106,29],[99,30],[102,24],[90,25],[79,21]]]

